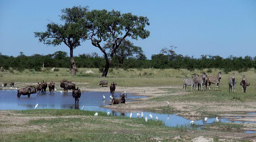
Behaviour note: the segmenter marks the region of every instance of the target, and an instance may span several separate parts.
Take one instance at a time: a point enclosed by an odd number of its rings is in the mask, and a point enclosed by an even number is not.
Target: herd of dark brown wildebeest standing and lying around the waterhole
[[[106,87],[108,86],[108,81],[100,81],[100,83],[98,83],[99,85],[106,85]],[[49,93],[53,94],[55,89],[55,82],[50,82],[49,84],[47,84],[47,82],[44,82],[44,80],[41,83],[37,83],[36,87],[34,86],[28,86],[25,88],[20,88],[17,89],[17,97],[20,97],[21,95],[28,95],[28,98],[30,97],[31,94],[37,93],[38,95],[40,94],[45,94],[46,93],[46,89],[47,89],[47,85],[49,88]],[[115,93],[115,85],[117,85],[117,83],[111,83],[110,85],[110,100],[111,100],[111,104],[110,105],[114,105],[114,104],[119,104],[119,103],[125,103],[125,97],[127,96],[126,92],[125,94],[121,95],[119,94],[119,98],[115,98],[117,96],[114,96]],[[6,87],[7,83],[3,84],[3,87]],[[14,82],[10,83],[10,86],[14,87]],[[73,98],[75,98],[75,103],[79,103],[79,99],[81,97],[81,91],[79,89],[79,87],[76,88],[76,84],[69,82],[67,80],[62,80],[60,82],[60,87],[63,88],[63,93],[67,93],[68,90],[72,89],[72,96]],[[12,89],[12,87],[10,87]],[[62,93],[62,91],[60,91]],[[104,97],[105,99],[105,97]]]

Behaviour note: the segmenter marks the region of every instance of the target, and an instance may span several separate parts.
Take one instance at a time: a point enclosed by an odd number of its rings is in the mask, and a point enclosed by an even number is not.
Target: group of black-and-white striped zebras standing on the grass
[[[218,90],[220,79],[221,79],[221,72],[218,72],[216,76],[207,76],[207,74],[203,72],[201,76],[196,75],[191,79],[185,78],[183,80],[183,89],[185,91],[187,86],[191,86],[191,90],[193,90],[195,86],[195,88],[199,90],[199,86],[200,86],[201,91],[204,91],[204,87],[205,87],[205,91],[207,91],[207,84],[209,86],[209,90],[211,90],[210,88],[211,84],[216,84],[215,90]],[[249,86],[250,83],[248,83],[248,81],[245,79],[245,75],[243,75],[240,85],[242,87],[243,93],[246,93],[246,87]],[[230,92],[230,88],[231,88],[231,92],[233,92],[233,89],[235,92],[235,86],[236,86],[235,73],[232,73],[232,77],[228,79],[228,86],[229,86],[228,92]]]

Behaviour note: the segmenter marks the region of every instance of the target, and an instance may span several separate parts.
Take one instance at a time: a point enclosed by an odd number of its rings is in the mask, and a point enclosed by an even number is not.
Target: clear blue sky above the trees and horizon
[[[60,23],[60,10],[73,6],[117,10],[147,16],[150,31],[147,39],[132,40],[143,48],[146,57],[175,45],[177,54],[220,55],[222,57],[256,56],[256,1],[0,1],[0,52],[17,56],[34,53],[47,55],[66,51],[67,46],[46,46],[33,32],[46,30],[49,20]],[[128,38],[130,39],[130,38]],[[89,41],[74,50],[74,55],[100,50]]]

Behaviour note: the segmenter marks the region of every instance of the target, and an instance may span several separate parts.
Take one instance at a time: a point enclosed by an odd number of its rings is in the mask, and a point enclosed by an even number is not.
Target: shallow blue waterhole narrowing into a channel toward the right
[[[38,103],[37,109],[45,109],[45,108],[52,108],[52,109],[82,109],[84,106],[84,110],[92,110],[92,111],[101,111],[101,112],[110,112],[111,115],[115,116],[130,116],[132,112],[132,118],[137,118],[137,113],[141,114],[142,111],[140,110],[129,110],[126,112],[111,110],[108,108],[102,108],[99,106],[109,105],[110,98],[109,92],[83,92],[81,94],[79,105],[75,105],[75,99],[72,97],[72,93],[69,92],[67,94],[61,94],[60,92],[54,92],[54,94],[49,94],[49,91],[46,91],[46,94],[37,95],[31,94],[30,98],[27,95],[21,95],[20,98],[17,97],[17,91],[7,90],[7,91],[0,91],[0,109],[12,109],[12,110],[23,110],[23,109],[34,109],[35,105]],[[105,101],[103,100],[103,95],[106,97]],[[116,93],[115,95],[119,95]],[[140,97],[146,96],[134,96],[131,94],[127,95],[126,99],[135,99]],[[131,101],[131,100],[127,100]],[[155,116],[158,117],[158,120],[162,120],[166,126],[189,126],[190,121],[184,117],[177,116],[176,114],[162,114],[162,113],[154,113],[154,112],[146,112],[143,111],[144,118],[145,116],[148,117],[150,120],[149,113],[152,114],[153,120],[155,120]],[[141,118],[141,116],[139,116]],[[220,118],[219,118],[220,119]],[[202,120],[197,120],[195,124],[197,125],[205,125],[215,123],[216,118],[208,118],[207,123],[204,123],[203,118]],[[227,118],[220,119],[221,122],[231,122]],[[242,123],[241,121],[234,121],[233,123]],[[244,122],[244,123],[254,123],[254,122]],[[253,131],[252,131],[253,132]],[[249,131],[247,131],[249,133]]]

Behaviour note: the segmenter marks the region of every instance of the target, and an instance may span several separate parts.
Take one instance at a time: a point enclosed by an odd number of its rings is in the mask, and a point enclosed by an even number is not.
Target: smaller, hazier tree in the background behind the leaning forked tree
[[[109,55],[111,54],[111,51],[112,51],[111,48],[112,48],[111,42],[108,42],[104,46],[105,50],[110,49]],[[120,47],[117,48],[116,52],[115,52],[115,56],[117,57],[119,64],[121,64],[121,66],[123,65],[123,60],[127,57],[128,58],[132,57],[133,54],[141,55],[141,54],[143,54],[143,51],[142,51],[141,47],[134,46],[133,43],[131,43],[131,41],[125,40],[125,39],[123,39],[123,41],[121,41]]]

